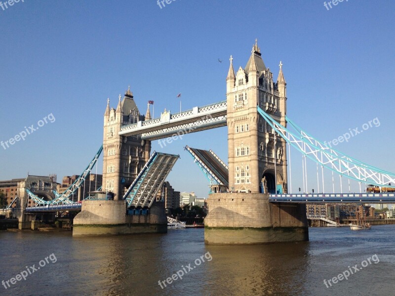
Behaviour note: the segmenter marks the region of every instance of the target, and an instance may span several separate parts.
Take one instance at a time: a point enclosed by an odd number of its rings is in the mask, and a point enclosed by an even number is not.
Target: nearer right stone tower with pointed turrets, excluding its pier
[[[257,112],[259,105],[278,123],[286,125],[286,82],[282,64],[277,82],[266,68],[257,41],[246,66],[235,74],[233,58],[226,78],[229,190],[287,192],[286,142]],[[265,189],[266,190],[266,189]]]

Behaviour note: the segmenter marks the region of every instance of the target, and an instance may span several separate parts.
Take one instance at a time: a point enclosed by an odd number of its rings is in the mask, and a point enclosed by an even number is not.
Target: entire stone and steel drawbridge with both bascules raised
[[[74,218],[73,235],[166,232],[167,219],[158,190],[179,156],[151,153],[151,141],[225,126],[228,127],[228,164],[211,150],[185,147],[211,188],[204,221],[206,244],[308,240],[304,205],[308,202],[395,202],[395,194],[391,192],[343,193],[341,188],[341,193],[325,193],[324,168],[340,177],[354,179],[360,186],[372,184],[378,188],[395,188],[387,185],[395,184],[395,174],[360,162],[315,139],[287,117],[286,102],[282,63],[275,82],[257,41],[247,64],[236,73],[231,56],[225,101],[175,114],[164,110],[159,118],[152,119],[149,106],[145,115],[140,114],[129,87],[123,99],[119,95],[116,109],[110,108],[108,100],[103,146],[65,193],[54,192],[53,200],[43,199],[29,190],[19,196],[20,227],[29,220],[28,213],[81,210]],[[302,154],[304,164],[307,158],[316,162],[317,178],[318,166],[321,168],[322,190],[318,188],[318,192],[322,193],[289,192],[292,180],[289,174],[288,181],[287,147],[290,146]],[[114,200],[88,197],[74,202],[74,194],[102,151],[101,190],[107,196],[110,193]],[[34,201],[35,207],[24,207],[27,199]]]

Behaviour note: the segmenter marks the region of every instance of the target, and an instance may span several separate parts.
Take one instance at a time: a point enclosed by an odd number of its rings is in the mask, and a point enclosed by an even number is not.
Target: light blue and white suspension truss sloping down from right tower
[[[288,128],[277,123],[272,117],[259,108],[259,106],[257,106],[257,111],[287,143],[320,166],[358,182],[373,184],[379,187],[386,186],[395,188],[395,185],[386,185],[388,183],[395,184],[395,173],[377,169],[373,166],[356,161],[343,153],[339,153],[305,133],[293,122],[291,126],[296,127],[295,129],[297,132],[291,132]]]

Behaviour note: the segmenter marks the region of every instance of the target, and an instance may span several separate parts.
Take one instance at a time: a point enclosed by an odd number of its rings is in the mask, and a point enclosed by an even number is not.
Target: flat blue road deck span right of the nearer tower
[[[388,204],[395,202],[394,193],[306,193],[269,194],[270,202],[292,203],[369,203]]]

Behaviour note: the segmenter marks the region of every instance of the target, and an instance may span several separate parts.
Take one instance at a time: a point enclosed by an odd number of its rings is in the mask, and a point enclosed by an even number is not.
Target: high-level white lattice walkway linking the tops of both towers
[[[175,114],[165,111],[159,118],[122,126],[118,134],[123,136],[141,134],[142,139],[157,140],[173,134],[225,127],[227,125],[226,114],[226,101],[194,107]]]

